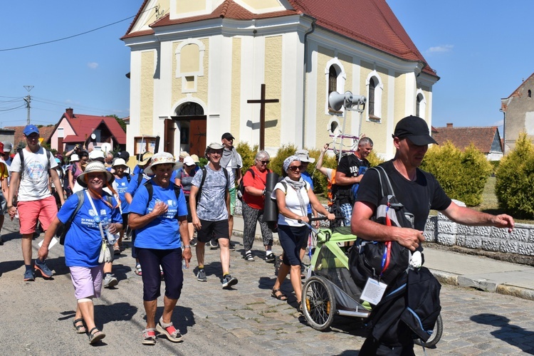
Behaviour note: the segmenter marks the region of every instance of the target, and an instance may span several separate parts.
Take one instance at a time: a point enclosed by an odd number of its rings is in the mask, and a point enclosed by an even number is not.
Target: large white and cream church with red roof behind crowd
[[[402,117],[431,126],[439,76],[386,0],[145,0],[122,41],[132,154],[204,155],[223,132],[271,154],[325,142],[350,150],[365,132],[392,157]],[[337,108],[333,92],[362,100]]]

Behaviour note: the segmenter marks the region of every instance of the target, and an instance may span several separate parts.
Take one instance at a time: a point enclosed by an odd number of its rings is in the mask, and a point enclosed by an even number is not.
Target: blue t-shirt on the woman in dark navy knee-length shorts
[[[152,200],[148,202],[147,188],[142,185],[130,204],[130,213],[139,215],[150,214],[157,201],[163,201],[169,206],[167,214],[160,215],[150,221],[147,225],[135,230],[135,247],[154,248],[157,250],[169,250],[182,247],[180,239],[179,221],[177,216],[187,216],[187,204],[185,203],[184,192],[180,189],[178,199],[174,194],[174,185],[163,188],[152,184]],[[148,204],[147,204],[148,203]]]

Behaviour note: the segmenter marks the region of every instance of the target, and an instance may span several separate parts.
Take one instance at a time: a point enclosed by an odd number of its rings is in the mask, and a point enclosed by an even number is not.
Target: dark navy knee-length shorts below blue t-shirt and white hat
[[[184,286],[184,271],[182,271],[182,248],[170,250],[156,250],[154,248],[137,248],[139,263],[143,268],[143,300],[156,300],[161,292],[161,272],[165,281],[165,296],[169,299],[179,299]]]

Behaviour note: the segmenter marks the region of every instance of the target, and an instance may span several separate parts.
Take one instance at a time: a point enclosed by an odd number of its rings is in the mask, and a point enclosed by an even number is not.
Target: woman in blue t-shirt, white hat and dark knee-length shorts
[[[145,173],[154,174],[154,177],[137,189],[130,204],[128,224],[135,229],[135,249],[143,268],[143,300],[147,315],[143,345],[155,345],[156,331],[172,342],[182,341],[182,334],[174,328],[171,318],[184,284],[182,255],[189,267],[192,254],[184,192],[170,181],[172,172],[179,167],[182,162],[174,162],[170,153],[152,156]],[[165,280],[165,297],[163,315],[156,325],[161,287],[159,266]]]

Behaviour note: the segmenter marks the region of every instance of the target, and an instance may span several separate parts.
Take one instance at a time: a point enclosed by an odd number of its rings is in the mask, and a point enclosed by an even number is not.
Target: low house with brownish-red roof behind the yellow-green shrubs
[[[452,123],[447,123],[446,127],[432,127],[432,137],[439,145],[449,141],[460,150],[473,144],[486,155],[488,161],[503,158],[503,145],[497,126],[454,127]]]

